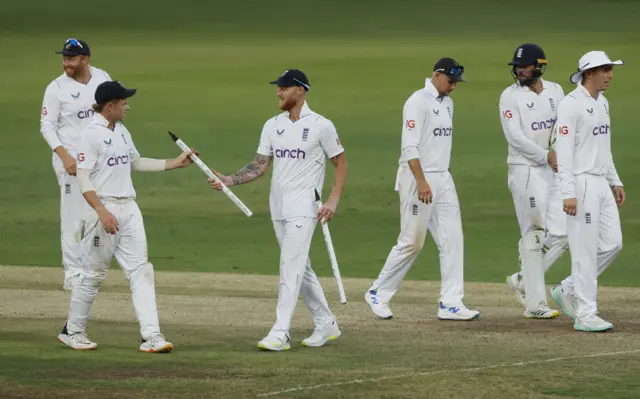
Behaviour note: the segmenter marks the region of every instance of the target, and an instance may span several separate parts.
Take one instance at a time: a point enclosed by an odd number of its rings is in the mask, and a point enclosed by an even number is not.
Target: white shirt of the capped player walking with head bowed
[[[402,110],[400,167],[419,159],[424,172],[449,169],[453,137],[453,101],[440,94],[427,78],[424,89],[414,92]]]

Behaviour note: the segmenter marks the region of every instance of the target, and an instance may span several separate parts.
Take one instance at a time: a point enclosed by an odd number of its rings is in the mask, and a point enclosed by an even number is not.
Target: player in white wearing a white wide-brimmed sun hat
[[[598,317],[598,276],[622,249],[617,206],[625,201],[611,154],[609,88],[614,65],[603,51],[580,58],[571,75],[576,89],[558,107],[558,173],[571,251],[571,276],[552,297],[575,320],[578,331],[606,331],[613,324]]]

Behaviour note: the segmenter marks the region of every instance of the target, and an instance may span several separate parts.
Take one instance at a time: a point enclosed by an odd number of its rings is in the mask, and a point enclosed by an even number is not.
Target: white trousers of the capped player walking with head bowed
[[[446,307],[462,305],[464,295],[464,242],[458,194],[449,172],[425,173],[433,202],[418,200],[416,181],[409,168],[398,170],[400,235],[370,291],[385,303],[398,291],[424,246],[427,230],[440,252],[440,301]]]

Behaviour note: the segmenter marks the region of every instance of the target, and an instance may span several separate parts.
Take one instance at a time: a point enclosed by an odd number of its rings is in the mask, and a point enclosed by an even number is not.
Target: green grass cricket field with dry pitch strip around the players
[[[0,397],[253,397],[317,385],[281,396],[640,396],[633,352],[640,300],[633,288],[640,286],[638,14],[639,2],[623,0],[1,2],[0,264],[22,267],[0,269]],[[89,42],[94,65],[139,89],[126,124],[143,156],[175,156],[172,130],[223,173],[253,158],[262,124],[278,112],[268,82],[285,68],[307,72],[309,104],[336,124],[350,167],[331,224],[350,301],[336,306],[345,332],[339,342],[322,356],[299,345],[284,356],[253,351],[276,300],[269,176],[234,188],[255,213],[247,219],[194,167],[135,176],[150,260],[160,271],[163,326],[176,352],[149,359],[134,351],[137,327],[116,270],[90,325],[100,350],[57,347],[68,297],[59,290],[58,187],[38,130],[44,89],[62,73],[53,52],[71,36]],[[507,62],[528,41],[545,49],[545,77],[565,92],[584,52],[602,49],[626,61],[607,92],[614,158],[628,196],[620,209],[624,248],[600,280],[612,334],[576,334],[566,318],[525,322],[503,283],[517,264],[518,227],[497,102],[512,83]],[[434,320],[439,267],[428,240],[394,307],[401,315],[380,323],[369,317],[362,293],[398,234],[393,185],[402,105],[442,56],[465,65],[469,80],[453,95],[451,168],[463,212],[467,302],[482,319]],[[319,275],[330,276],[320,234],[311,258]],[[568,271],[565,256],[548,283]],[[305,312],[301,307],[294,323],[298,342],[310,328]],[[609,355],[580,357],[599,354]]]

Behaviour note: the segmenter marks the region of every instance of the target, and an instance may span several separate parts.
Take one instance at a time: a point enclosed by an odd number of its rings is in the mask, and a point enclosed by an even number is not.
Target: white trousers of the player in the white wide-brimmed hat
[[[575,216],[567,217],[571,251],[571,277],[563,288],[575,296],[578,318],[598,311],[598,276],[622,249],[620,215],[611,188],[604,176],[578,175]]]

